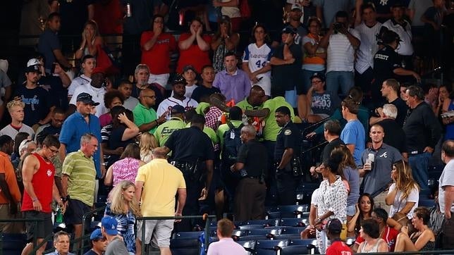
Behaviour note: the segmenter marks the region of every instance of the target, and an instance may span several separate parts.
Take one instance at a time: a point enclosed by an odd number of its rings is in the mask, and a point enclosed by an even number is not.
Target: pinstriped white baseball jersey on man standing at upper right
[[[381,23],[379,22],[373,27],[368,27],[364,23],[355,27],[361,37],[355,63],[355,69],[358,73],[364,73],[369,67],[374,68],[374,55],[379,50],[379,44],[376,44],[376,35],[379,34],[380,29]]]

